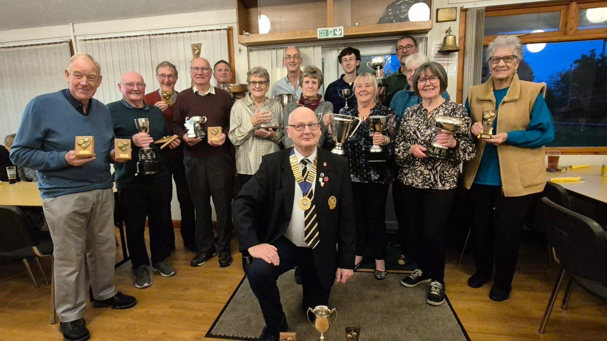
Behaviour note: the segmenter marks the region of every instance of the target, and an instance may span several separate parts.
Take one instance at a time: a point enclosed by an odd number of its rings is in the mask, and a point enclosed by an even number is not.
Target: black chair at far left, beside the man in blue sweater
[[[0,205],[0,257],[22,260],[35,288],[39,288],[27,260],[34,260],[38,264],[44,282],[49,285],[38,257],[52,257],[52,255],[53,240],[50,238],[49,232],[34,231],[27,220],[27,216],[20,208]],[[55,285],[53,283],[52,266],[50,273],[50,311],[50,323],[55,324]]]

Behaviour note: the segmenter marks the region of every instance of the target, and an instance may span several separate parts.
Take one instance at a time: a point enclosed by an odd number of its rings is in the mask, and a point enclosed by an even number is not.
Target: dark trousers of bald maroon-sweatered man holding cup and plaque
[[[219,157],[184,157],[186,178],[196,211],[196,248],[198,252],[230,251],[232,240],[232,190],[234,163],[229,154]],[[215,249],[211,197],[217,214]]]

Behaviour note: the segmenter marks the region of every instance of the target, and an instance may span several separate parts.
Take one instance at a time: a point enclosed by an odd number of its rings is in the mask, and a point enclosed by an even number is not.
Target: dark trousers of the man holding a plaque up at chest
[[[179,201],[179,208],[181,209],[181,238],[183,239],[183,245],[195,249],[195,213],[194,203],[192,203],[192,197],[189,193],[188,180],[186,179],[186,169],[183,166],[182,158],[169,158],[168,159],[169,172],[171,173],[173,180],[175,181],[175,187],[177,189],[177,200]],[[171,201],[173,199],[173,191],[171,191]],[[169,208],[169,214],[171,214]],[[170,217],[170,216],[169,216]],[[171,218],[171,232],[169,232],[167,238],[172,245],[175,245],[175,232],[172,229],[172,218]]]

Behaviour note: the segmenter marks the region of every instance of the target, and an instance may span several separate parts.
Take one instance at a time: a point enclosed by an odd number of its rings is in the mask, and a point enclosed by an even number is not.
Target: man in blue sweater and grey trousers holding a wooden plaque
[[[10,158],[36,169],[42,208],[53,238],[56,313],[64,340],[90,338],[84,323],[89,266],[93,307],[127,309],[135,297],[114,288],[114,194],[110,162],[114,129],[106,106],[93,99],[101,67],[78,53],[66,69],[68,89],[40,95],[25,107]],[[95,137],[95,157],[76,158],[76,136]],[[115,161],[115,160],[114,160]]]

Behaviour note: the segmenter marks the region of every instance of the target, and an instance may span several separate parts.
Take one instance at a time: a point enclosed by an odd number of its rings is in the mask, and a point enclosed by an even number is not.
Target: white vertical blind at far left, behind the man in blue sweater
[[[16,133],[32,98],[67,87],[67,42],[0,49],[0,144]]]

